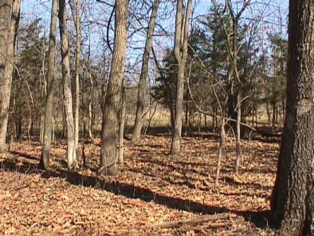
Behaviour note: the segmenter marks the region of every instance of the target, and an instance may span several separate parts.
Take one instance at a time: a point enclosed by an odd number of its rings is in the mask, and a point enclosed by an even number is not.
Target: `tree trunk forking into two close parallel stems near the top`
[[[177,155],[181,150],[181,132],[182,132],[182,111],[183,111],[183,92],[184,92],[184,71],[187,59],[187,38],[189,20],[191,15],[192,0],[188,0],[185,20],[183,22],[183,0],[177,2],[176,32],[175,32],[175,58],[178,62],[177,74],[177,92],[175,122],[172,132],[171,154]],[[183,45],[181,47],[181,45]]]

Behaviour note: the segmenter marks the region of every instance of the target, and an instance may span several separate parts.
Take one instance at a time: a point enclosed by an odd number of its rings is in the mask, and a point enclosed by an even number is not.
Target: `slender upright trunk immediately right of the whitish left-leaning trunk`
[[[79,131],[79,69],[80,69],[80,44],[81,44],[81,30],[80,30],[80,13],[79,9],[81,7],[80,0],[76,0],[76,3],[73,3],[73,0],[70,0],[70,6],[72,10],[73,20],[75,24],[77,40],[76,40],[76,55],[75,55],[75,117],[74,117],[74,124],[75,124],[75,149],[78,154],[78,131]]]

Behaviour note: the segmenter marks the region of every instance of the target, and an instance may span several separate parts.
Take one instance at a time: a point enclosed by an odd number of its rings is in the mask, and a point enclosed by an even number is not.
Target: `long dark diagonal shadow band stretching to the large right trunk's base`
[[[21,154],[20,154],[21,155]],[[27,156],[24,156],[28,158]],[[173,209],[189,211],[202,214],[218,214],[218,213],[235,213],[243,216],[247,221],[253,222],[257,227],[268,227],[268,219],[270,219],[269,211],[253,212],[253,211],[235,211],[224,207],[211,207],[209,205],[196,202],[186,201],[174,197],[167,197],[153,192],[148,188],[137,187],[129,184],[119,183],[117,181],[106,180],[101,176],[85,176],[75,172],[55,169],[49,171],[39,170],[36,164],[23,162],[22,164],[14,161],[3,160],[0,162],[0,168],[6,172],[19,172],[22,174],[40,174],[43,178],[58,177],[63,178],[67,182],[74,185],[85,187],[93,187],[102,189],[116,195],[123,195],[131,199],[140,199],[145,202],[155,202],[158,205],[166,206]]]

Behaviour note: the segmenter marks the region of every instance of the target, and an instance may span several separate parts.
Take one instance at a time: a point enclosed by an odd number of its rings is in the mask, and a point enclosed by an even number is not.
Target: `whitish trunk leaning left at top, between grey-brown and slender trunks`
[[[59,0],[59,27],[61,38],[61,59],[62,59],[62,77],[63,77],[63,96],[65,121],[67,129],[67,159],[68,169],[73,170],[77,166],[77,153],[75,148],[75,127],[72,109],[72,91],[70,75],[70,55],[69,40],[67,29],[67,13],[65,0]]]

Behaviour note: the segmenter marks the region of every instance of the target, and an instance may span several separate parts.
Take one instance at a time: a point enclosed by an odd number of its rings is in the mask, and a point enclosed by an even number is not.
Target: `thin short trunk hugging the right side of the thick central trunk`
[[[123,139],[124,139],[124,123],[126,118],[126,91],[124,85],[122,85],[122,94],[121,94],[121,110],[120,110],[120,119],[119,119],[119,164],[123,164]]]

